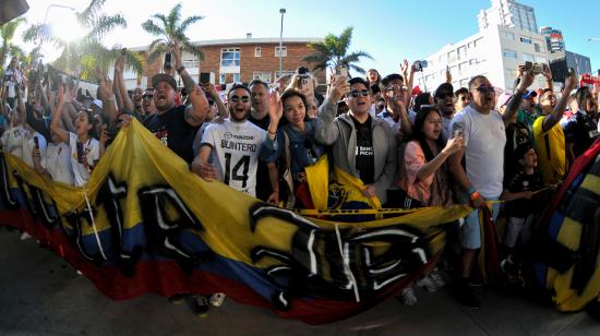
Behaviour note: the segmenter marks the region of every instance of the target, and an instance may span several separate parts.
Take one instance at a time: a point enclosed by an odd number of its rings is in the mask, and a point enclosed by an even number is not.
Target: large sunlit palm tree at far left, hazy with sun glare
[[[23,35],[25,41],[51,40],[62,49],[60,57],[53,62],[53,67],[73,75],[80,75],[84,80],[94,77],[96,68],[106,71],[121,52],[121,46],[107,48],[101,44],[106,34],[117,27],[127,27],[127,21],[121,14],[107,15],[101,12],[106,0],[92,0],[82,12],[76,12],[82,29],[88,32],[82,38],[67,41],[45,25],[32,25]],[[128,67],[139,75],[143,72],[141,55],[128,50]]]

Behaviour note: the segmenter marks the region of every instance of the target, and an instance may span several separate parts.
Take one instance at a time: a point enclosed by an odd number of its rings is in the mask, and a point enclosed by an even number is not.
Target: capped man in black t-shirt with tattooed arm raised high
[[[194,82],[181,61],[179,46],[172,48],[176,70],[181,76],[190,106],[176,106],[177,82],[168,74],[159,73],[152,77],[153,99],[156,113],[144,121],[144,125],[187,163],[194,159],[194,135],[208,112],[208,101],[204,92]]]

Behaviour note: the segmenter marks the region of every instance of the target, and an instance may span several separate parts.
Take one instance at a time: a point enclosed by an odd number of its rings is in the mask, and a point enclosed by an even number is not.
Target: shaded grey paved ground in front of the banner
[[[416,307],[391,299],[355,317],[321,326],[227,300],[205,319],[187,304],[146,295],[124,302],[94,285],[34,240],[0,227],[0,335],[600,335],[586,313],[563,314],[483,288],[483,307],[457,305],[445,290],[418,292]]]

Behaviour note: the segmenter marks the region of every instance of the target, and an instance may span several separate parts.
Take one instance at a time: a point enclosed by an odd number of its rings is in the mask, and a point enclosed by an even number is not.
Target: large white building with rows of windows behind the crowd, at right
[[[416,75],[421,88],[433,91],[445,82],[448,67],[455,89],[467,87],[470,79],[476,75],[485,75],[492,85],[512,92],[518,65],[527,61],[548,63],[548,50],[542,35],[495,25],[456,44],[444,46],[427,57],[427,61],[428,68]],[[544,79],[537,76],[532,87],[543,85]]]

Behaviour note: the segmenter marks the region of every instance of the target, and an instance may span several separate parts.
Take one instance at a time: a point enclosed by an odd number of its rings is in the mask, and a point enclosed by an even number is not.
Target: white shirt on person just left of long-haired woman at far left
[[[59,144],[49,144],[41,156],[41,167],[44,167],[52,181],[73,185],[73,168],[71,166],[71,147],[61,142]]]

